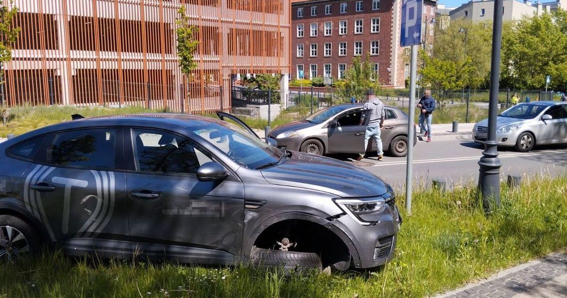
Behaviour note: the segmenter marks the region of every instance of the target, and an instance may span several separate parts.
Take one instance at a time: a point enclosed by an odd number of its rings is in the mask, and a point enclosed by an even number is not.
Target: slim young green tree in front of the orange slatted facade
[[[185,14],[185,7],[181,6],[177,13],[181,15],[176,20],[177,28],[177,55],[179,56],[179,67],[181,72],[185,75],[191,74],[193,69],[197,68],[197,62],[194,61],[193,55],[197,50],[199,41],[197,40],[197,33],[199,29],[197,26],[189,23],[189,16]]]

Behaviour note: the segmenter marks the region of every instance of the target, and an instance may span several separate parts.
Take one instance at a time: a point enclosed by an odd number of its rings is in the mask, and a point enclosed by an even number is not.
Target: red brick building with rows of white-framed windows
[[[437,1],[424,3],[424,23],[430,23]],[[380,83],[403,87],[409,68],[400,26],[401,0],[292,0],[291,77],[303,70],[308,79],[340,79],[354,56],[369,52]],[[433,26],[427,36],[432,43]]]

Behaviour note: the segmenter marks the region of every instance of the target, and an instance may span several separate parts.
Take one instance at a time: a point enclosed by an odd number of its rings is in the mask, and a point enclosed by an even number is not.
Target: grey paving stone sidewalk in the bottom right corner
[[[567,297],[567,253],[547,255],[437,297]]]

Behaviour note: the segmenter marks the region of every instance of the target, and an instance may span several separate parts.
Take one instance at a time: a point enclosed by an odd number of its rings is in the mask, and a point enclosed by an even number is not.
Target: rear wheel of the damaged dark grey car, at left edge
[[[41,238],[36,230],[11,215],[0,215],[0,260],[14,261],[41,249]]]

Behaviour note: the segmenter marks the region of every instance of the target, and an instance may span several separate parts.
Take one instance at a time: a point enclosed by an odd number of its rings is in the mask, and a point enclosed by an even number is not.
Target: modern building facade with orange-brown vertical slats
[[[13,5],[19,9],[14,26],[22,31],[4,66],[9,106],[139,104],[206,113],[230,108],[235,74],[287,74],[290,67],[290,0],[14,0]],[[189,75],[181,73],[176,53],[181,6],[200,41],[198,67]],[[287,79],[282,82],[287,86]]]

